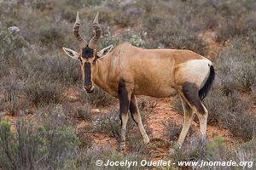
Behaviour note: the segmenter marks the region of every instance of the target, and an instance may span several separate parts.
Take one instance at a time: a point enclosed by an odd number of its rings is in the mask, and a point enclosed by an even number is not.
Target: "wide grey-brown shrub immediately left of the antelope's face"
[[[17,74],[21,79],[28,77],[47,78],[49,81],[61,82],[62,85],[75,84],[81,80],[79,62],[66,56],[46,54],[23,56]]]

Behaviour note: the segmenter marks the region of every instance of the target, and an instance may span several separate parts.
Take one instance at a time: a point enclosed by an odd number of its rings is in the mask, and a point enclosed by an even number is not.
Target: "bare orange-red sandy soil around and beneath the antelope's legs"
[[[144,97],[140,97],[142,99]],[[146,97],[147,99],[150,99]],[[155,99],[154,99],[155,101]],[[150,139],[150,144],[148,148],[154,152],[154,157],[162,157],[168,155],[168,150],[170,149],[170,141],[168,141],[166,136],[165,122],[176,122],[179,125],[183,124],[183,116],[178,114],[175,109],[172,108],[172,99],[157,99],[157,105],[148,117],[144,126],[148,131],[150,129],[148,137]],[[106,108],[104,108],[106,111]],[[108,109],[107,109],[108,110]],[[100,110],[102,111],[102,110]],[[97,111],[96,111],[97,112]],[[96,116],[97,113],[94,114]],[[79,122],[78,129],[88,126],[88,122]],[[192,123],[194,125],[196,133],[199,133],[199,124],[196,122]],[[136,129],[138,131],[138,129]],[[130,134],[132,135],[132,133]],[[229,130],[221,129],[219,127],[207,126],[207,136],[209,140],[212,140],[214,136],[221,136],[224,139],[224,143],[233,146],[239,144],[241,139],[233,137]],[[96,146],[106,146],[112,147],[113,149],[118,148],[118,142],[105,133],[90,133],[90,138],[94,140]],[[175,142],[175,141],[173,141]]]

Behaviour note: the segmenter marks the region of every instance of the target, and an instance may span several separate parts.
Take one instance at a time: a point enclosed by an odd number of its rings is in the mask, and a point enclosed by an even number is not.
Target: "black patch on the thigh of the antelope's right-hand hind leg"
[[[201,114],[205,113],[204,108],[201,105],[201,100],[198,95],[199,88],[192,82],[183,83],[183,94],[189,100],[191,105],[195,105],[197,111]]]

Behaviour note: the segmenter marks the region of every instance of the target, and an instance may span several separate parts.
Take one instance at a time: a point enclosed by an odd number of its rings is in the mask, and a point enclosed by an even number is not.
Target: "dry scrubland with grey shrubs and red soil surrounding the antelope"
[[[79,48],[72,32],[78,10],[87,40],[100,12],[100,48],[130,42],[190,49],[212,60],[207,143],[196,138],[195,117],[183,148],[170,156],[183,121],[178,98],[140,97],[151,143],[144,146],[130,122],[128,148],[117,150],[117,99],[100,88],[85,94],[79,63],[61,49]],[[204,169],[256,169],[254,0],[2,0],[0,28],[0,169],[125,169],[96,167],[97,159],[254,161]],[[145,168],[153,167],[132,167]]]

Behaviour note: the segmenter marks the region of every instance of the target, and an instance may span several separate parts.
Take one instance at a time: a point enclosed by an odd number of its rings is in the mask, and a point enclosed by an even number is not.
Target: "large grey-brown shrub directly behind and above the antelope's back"
[[[152,16],[145,25],[150,37],[147,48],[190,49],[198,54],[207,54],[207,42],[175,17],[163,19]]]

